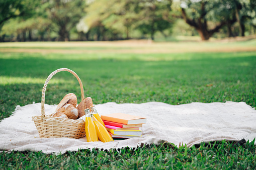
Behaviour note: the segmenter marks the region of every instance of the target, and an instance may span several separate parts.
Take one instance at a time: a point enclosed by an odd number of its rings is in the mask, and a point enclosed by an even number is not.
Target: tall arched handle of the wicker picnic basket
[[[72,70],[67,69],[67,68],[57,69],[57,70],[55,70],[54,72],[52,72],[52,73],[47,77],[47,79],[45,80],[45,83],[44,83],[44,87],[43,87],[43,90],[42,90],[42,102],[41,102],[42,118],[44,118],[44,116],[45,116],[44,98],[45,98],[45,91],[46,91],[47,84],[48,84],[48,82],[50,81],[50,79],[52,78],[53,75],[55,75],[56,73],[61,72],[61,71],[67,71],[67,72],[73,74],[73,75],[76,77],[76,79],[77,79],[78,82],[79,82],[80,89],[81,89],[81,98],[82,98],[82,100],[84,99],[84,93],[83,93],[82,82],[81,82],[80,78],[77,76],[77,74],[76,74],[75,72],[73,72]]]

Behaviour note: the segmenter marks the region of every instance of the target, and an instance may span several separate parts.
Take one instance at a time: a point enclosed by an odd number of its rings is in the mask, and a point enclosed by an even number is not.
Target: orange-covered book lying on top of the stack
[[[146,118],[141,116],[134,116],[125,113],[111,113],[101,115],[102,120],[123,123],[123,124],[141,124],[146,123]]]

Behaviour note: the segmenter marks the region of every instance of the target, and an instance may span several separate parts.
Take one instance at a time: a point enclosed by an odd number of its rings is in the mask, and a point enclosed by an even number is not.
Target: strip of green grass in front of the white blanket
[[[217,145],[215,147],[215,145]],[[253,142],[202,143],[198,148],[170,143],[146,145],[137,149],[123,148],[68,151],[49,155],[42,152],[1,153],[1,169],[255,169]]]

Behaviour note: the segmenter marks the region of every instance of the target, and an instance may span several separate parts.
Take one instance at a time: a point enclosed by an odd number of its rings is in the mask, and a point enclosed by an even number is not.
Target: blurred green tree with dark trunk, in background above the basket
[[[83,0],[45,0],[42,10],[57,27],[59,41],[69,41],[70,30],[75,27],[80,18],[85,15]]]

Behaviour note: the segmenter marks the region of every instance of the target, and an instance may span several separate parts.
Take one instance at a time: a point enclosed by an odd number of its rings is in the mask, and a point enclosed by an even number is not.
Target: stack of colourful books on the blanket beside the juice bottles
[[[146,123],[145,117],[125,113],[105,114],[101,115],[101,119],[110,135],[117,139],[141,136],[140,127],[143,123]]]

